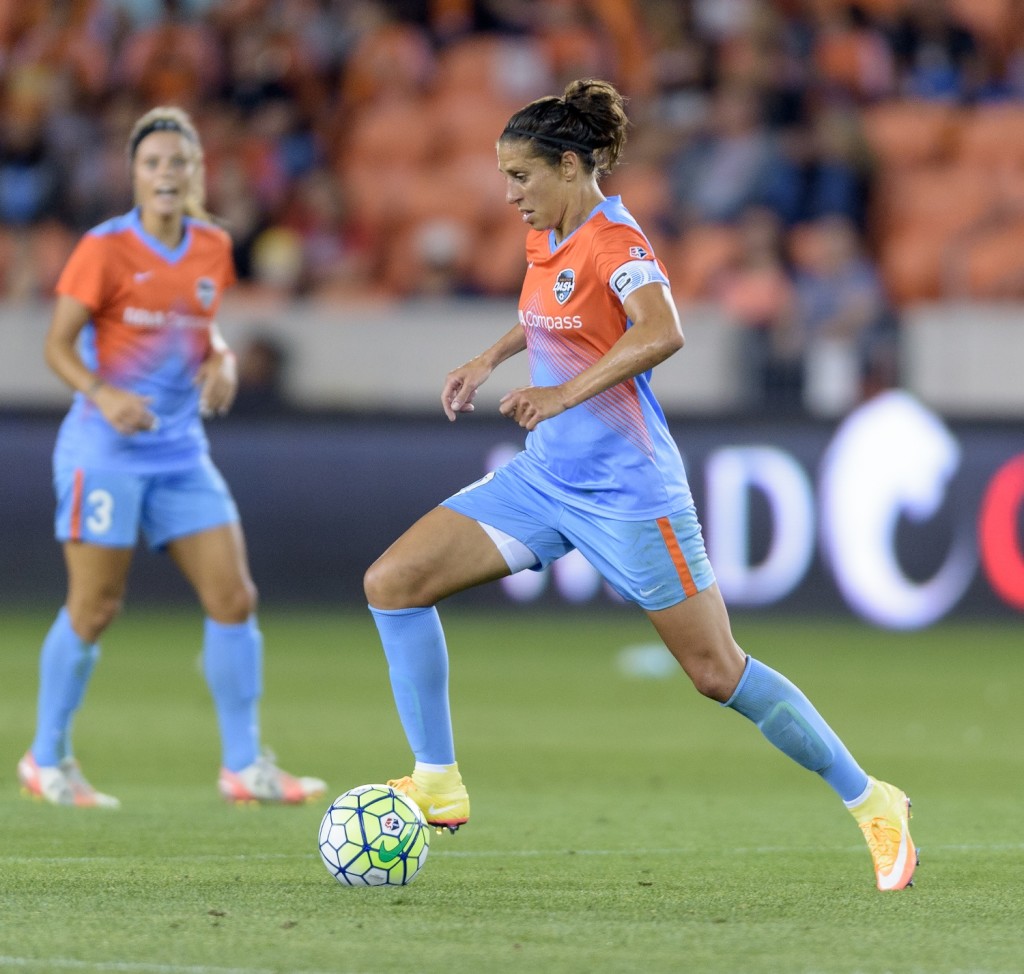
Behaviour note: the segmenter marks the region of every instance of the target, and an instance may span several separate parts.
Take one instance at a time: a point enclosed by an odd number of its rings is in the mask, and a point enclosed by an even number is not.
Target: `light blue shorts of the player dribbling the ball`
[[[540,570],[573,548],[625,599],[656,611],[715,582],[692,504],[646,520],[601,517],[554,500],[507,467],[469,484],[444,507],[525,545]]]

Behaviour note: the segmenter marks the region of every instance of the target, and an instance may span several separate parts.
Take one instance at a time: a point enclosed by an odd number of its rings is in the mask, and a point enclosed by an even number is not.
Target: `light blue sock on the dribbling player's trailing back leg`
[[[811,702],[793,683],[753,657],[723,707],[750,718],[797,764],[820,774],[844,802],[862,795],[867,775]]]

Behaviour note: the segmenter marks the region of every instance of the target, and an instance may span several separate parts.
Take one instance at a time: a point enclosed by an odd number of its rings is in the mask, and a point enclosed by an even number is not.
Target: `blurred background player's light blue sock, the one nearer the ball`
[[[255,616],[232,625],[206,620],[203,673],[217,711],[221,763],[241,771],[259,757],[263,636]]]

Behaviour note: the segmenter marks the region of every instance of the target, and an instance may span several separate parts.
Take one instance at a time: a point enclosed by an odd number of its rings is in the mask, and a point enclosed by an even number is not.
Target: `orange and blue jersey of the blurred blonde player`
[[[121,435],[76,393],[56,459],[144,473],[188,466],[208,452],[195,379],[221,297],[234,280],[230,239],[203,220],[186,217],[174,248],[146,234],[138,210],[82,238],[56,286],[57,294],[90,311],[80,336],[82,358],[110,384],[148,396],[158,425]]]

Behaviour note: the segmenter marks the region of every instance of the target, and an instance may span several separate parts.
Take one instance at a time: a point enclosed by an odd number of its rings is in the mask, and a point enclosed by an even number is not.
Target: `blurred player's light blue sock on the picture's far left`
[[[81,639],[72,629],[67,608],[43,640],[39,654],[39,703],[32,755],[41,767],[53,767],[71,757],[71,722],[82,706],[99,646]]]

